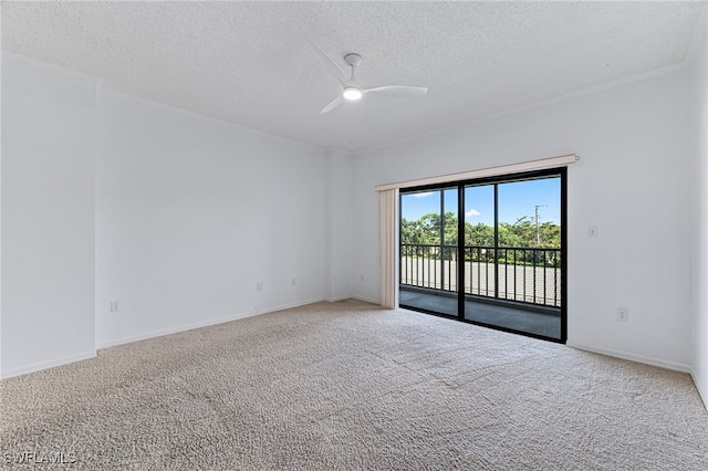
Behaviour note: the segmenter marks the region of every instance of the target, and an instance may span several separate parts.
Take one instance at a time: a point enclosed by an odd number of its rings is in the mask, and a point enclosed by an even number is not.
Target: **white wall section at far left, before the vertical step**
[[[95,355],[95,81],[2,55],[2,364]]]

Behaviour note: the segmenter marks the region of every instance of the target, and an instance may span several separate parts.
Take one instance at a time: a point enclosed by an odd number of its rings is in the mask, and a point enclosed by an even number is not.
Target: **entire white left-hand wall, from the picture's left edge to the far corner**
[[[327,193],[323,149],[2,66],[0,376],[325,297],[327,218],[347,219],[325,199],[351,203],[348,155]]]

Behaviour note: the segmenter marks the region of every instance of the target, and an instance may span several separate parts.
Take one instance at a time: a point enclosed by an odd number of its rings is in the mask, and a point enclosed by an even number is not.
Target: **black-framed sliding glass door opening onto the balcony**
[[[400,305],[565,341],[565,170],[400,195]]]

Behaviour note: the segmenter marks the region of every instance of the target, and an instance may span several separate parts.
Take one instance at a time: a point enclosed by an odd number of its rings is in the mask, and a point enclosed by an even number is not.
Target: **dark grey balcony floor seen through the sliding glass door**
[[[457,297],[454,293],[399,289],[399,304],[457,317]],[[502,327],[542,337],[561,338],[561,310],[544,308],[546,312],[535,312],[531,306],[500,305],[476,301],[468,297],[465,301],[465,318],[480,324]]]

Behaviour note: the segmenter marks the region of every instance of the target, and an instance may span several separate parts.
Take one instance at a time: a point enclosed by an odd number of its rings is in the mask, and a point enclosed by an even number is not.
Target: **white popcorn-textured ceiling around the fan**
[[[321,147],[358,150],[680,63],[705,2],[3,2],[2,49],[106,86]],[[340,93],[305,41],[357,52]]]

